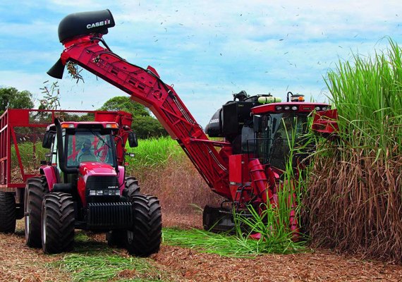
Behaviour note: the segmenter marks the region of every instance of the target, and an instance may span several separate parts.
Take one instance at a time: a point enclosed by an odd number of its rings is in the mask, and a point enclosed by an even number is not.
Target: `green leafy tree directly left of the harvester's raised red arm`
[[[101,111],[127,111],[133,115],[133,131],[138,138],[150,138],[166,136],[166,130],[152,117],[150,110],[142,104],[133,102],[130,97],[118,96],[107,100],[99,109]]]

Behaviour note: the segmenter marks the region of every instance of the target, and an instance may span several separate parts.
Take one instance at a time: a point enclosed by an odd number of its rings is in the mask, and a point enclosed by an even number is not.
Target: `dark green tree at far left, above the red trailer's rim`
[[[32,94],[29,91],[18,91],[14,87],[0,88],[0,115],[8,108],[32,109]]]

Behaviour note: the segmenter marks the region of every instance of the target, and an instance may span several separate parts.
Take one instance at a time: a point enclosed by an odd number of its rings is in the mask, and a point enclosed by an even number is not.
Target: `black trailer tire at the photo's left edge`
[[[0,192],[0,232],[16,231],[16,197],[13,192]]]

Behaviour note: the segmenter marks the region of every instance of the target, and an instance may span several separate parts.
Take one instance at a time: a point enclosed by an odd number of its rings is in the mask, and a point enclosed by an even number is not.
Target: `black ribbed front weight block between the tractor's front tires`
[[[133,208],[130,202],[88,204],[88,228],[127,229],[131,226],[133,226]]]

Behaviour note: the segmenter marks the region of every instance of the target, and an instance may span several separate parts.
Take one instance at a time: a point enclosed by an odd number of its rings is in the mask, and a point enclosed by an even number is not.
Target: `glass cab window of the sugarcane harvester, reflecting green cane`
[[[284,170],[290,145],[298,143],[307,133],[307,116],[296,113],[267,114],[262,116],[257,137],[257,154],[263,164]]]

